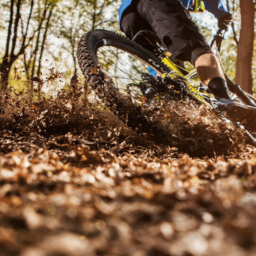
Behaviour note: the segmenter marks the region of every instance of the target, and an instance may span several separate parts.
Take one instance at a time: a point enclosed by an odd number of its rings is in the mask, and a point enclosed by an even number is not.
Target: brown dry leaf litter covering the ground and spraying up
[[[1,95],[0,255],[255,255],[256,156],[192,101],[144,106],[138,134],[74,85]]]

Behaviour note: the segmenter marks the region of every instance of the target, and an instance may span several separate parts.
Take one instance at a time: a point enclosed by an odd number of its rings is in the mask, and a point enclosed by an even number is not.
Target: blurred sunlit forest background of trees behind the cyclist
[[[57,92],[74,75],[81,77],[76,59],[79,39],[95,28],[121,33],[120,4],[121,0],[1,0],[1,90],[11,86],[15,93],[24,91],[35,98]],[[233,13],[222,43],[225,72],[243,90],[256,92],[255,1],[223,4]],[[217,19],[207,11],[192,17],[210,43]]]

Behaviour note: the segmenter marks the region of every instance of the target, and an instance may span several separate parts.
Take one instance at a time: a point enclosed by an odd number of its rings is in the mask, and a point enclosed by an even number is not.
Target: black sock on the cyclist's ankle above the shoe
[[[216,98],[219,100],[221,98],[230,99],[229,90],[227,87],[227,82],[222,77],[215,77],[208,83],[208,88]]]

